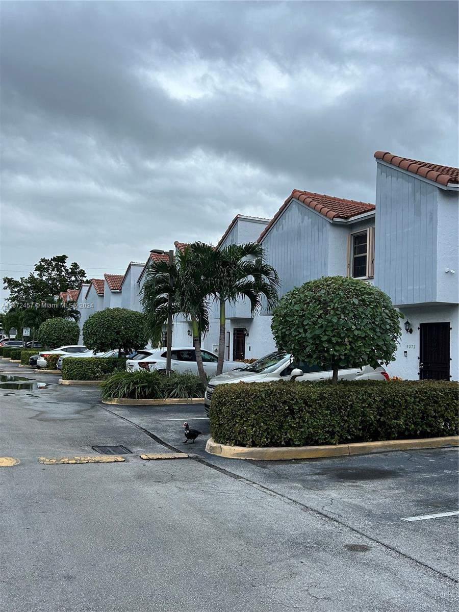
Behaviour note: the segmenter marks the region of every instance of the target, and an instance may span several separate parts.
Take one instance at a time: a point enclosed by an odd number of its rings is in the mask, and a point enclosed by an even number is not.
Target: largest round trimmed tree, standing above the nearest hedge
[[[272,316],[278,349],[333,370],[394,361],[400,316],[381,289],[356,278],[329,276],[295,287]]]

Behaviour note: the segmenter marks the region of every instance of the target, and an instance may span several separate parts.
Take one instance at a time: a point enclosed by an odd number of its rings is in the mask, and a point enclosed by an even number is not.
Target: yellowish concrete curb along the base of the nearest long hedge
[[[285,446],[285,447],[247,447],[218,444],[209,438],[206,452],[228,459],[252,459],[280,461],[285,459],[314,459],[319,457],[340,457],[343,455],[365,455],[387,450],[436,449],[442,446],[459,446],[459,436],[444,438],[418,438],[412,440],[382,440],[378,442],[353,442],[327,446]]]

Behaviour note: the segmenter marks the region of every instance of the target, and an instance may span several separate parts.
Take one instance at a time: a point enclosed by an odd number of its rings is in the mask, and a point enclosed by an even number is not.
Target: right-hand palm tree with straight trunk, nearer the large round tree
[[[264,258],[257,242],[231,244],[220,250],[195,242],[189,247],[200,271],[205,293],[217,300],[220,307],[217,375],[223,371],[225,357],[226,304],[236,304],[242,297],[250,301],[250,311],[258,314],[265,305],[271,310],[277,302],[279,278],[274,267]]]

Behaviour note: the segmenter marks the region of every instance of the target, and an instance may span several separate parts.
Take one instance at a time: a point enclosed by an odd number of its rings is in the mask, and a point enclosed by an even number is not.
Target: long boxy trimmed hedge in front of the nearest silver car
[[[211,435],[233,446],[314,446],[458,433],[447,381],[232,383],[215,387]]]

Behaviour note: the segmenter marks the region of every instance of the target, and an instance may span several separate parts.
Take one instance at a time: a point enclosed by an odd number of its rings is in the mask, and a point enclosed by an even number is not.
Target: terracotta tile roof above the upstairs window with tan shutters
[[[261,232],[258,237],[258,242],[261,241],[264,236],[266,236],[293,198],[299,200],[302,204],[305,204],[305,206],[309,206],[329,219],[348,219],[355,217],[355,215],[360,215],[364,212],[375,210],[375,204],[358,202],[356,200],[345,200],[344,198],[334,198],[331,195],[305,192],[299,189],[294,189],[271,221],[267,224],[266,228],[264,228],[264,230]]]

